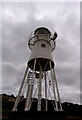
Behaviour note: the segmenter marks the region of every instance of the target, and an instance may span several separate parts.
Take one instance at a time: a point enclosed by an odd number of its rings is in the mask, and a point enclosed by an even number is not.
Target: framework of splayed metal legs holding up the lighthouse
[[[38,98],[38,103],[37,103],[37,110],[41,110],[41,99],[42,99],[42,80],[44,80],[44,85],[45,85],[45,106],[44,110],[48,110],[48,97],[52,100],[52,105],[55,111],[62,111],[62,105],[61,105],[61,100],[60,100],[60,94],[58,90],[58,85],[57,85],[57,80],[56,80],[56,75],[55,75],[55,70],[52,69],[51,67],[51,61],[50,61],[50,67],[51,71],[49,72],[38,72],[39,77],[36,78],[36,71],[35,71],[35,66],[36,66],[36,59],[34,61],[34,68],[33,71],[30,70],[27,66],[23,81],[21,83],[17,99],[15,101],[15,105],[12,111],[17,111],[17,106],[20,102],[21,99],[21,94],[24,89],[24,83],[27,81],[27,94],[26,94],[26,103],[25,103],[25,111],[30,110],[32,102],[37,96]],[[43,76],[43,77],[42,77]],[[49,76],[51,76],[49,78]],[[35,83],[35,79],[37,82]],[[42,88],[42,89],[41,89]],[[34,92],[33,92],[34,91]],[[36,95],[36,92],[38,94]],[[56,93],[57,92],[57,93]],[[54,102],[53,102],[54,100]],[[58,103],[59,102],[59,107]]]

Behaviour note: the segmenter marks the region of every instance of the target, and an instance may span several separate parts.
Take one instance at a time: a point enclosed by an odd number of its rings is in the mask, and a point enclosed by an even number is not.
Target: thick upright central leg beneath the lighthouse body
[[[39,88],[38,88],[38,111],[41,111],[41,83],[42,83],[42,68],[40,66]]]

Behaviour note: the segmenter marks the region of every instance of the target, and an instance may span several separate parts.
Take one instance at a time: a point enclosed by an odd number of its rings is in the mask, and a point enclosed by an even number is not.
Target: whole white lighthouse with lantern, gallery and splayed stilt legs
[[[45,111],[48,111],[48,99],[53,99],[55,111],[62,111],[60,94],[58,90],[55,63],[52,58],[52,51],[55,49],[57,33],[52,36],[45,27],[37,28],[29,37],[28,46],[31,56],[27,62],[26,71],[22,80],[15,105],[12,111],[17,111],[20,102],[24,83],[27,84],[25,111],[30,110],[33,97],[37,94],[37,111],[41,111],[41,100],[44,92]],[[44,87],[44,88],[43,88]],[[35,89],[36,88],[36,89]]]

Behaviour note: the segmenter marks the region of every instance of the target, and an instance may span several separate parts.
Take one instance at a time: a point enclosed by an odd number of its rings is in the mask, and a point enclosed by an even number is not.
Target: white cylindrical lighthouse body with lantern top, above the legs
[[[53,41],[52,47],[51,33],[47,28],[44,27],[37,28],[34,31],[34,35],[30,37],[28,46],[32,50],[30,59],[28,61],[28,66],[31,69],[33,69],[34,66],[33,63],[35,59],[36,59],[36,71],[40,71],[40,65],[42,67],[42,71],[50,70],[49,61],[51,61],[52,68],[54,67],[54,61],[51,52],[55,48],[55,42]],[[38,63],[38,60],[40,65]]]

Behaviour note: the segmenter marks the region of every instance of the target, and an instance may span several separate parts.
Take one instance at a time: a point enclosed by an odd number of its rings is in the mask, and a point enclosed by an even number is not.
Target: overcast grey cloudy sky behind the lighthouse
[[[17,95],[31,52],[29,34],[44,26],[58,33],[52,55],[61,100],[80,103],[80,3],[3,3],[2,18],[2,92]]]

